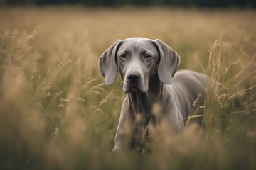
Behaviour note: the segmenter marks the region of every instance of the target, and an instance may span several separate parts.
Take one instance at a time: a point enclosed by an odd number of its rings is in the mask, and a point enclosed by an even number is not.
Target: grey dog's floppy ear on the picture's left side
[[[122,40],[117,40],[111,45],[102,56],[100,56],[99,67],[102,76],[105,77],[105,84],[111,86],[114,84],[114,80],[117,77],[117,63],[116,55],[119,45],[122,44]]]

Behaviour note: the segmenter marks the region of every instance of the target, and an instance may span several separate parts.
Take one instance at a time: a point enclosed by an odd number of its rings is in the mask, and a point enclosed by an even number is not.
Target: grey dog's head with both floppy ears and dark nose
[[[117,40],[102,54],[99,67],[107,86],[114,84],[119,70],[124,93],[146,93],[156,72],[163,84],[171,84],[179,62],[177,53],[161,40],[127,38]]]

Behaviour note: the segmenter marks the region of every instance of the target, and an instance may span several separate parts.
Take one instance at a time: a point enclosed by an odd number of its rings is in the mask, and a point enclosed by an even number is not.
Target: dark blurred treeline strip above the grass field
[[[0,0],[4,5],[82,4],[85,6],[196,6],[218,8],[256,8],[256,0]]]

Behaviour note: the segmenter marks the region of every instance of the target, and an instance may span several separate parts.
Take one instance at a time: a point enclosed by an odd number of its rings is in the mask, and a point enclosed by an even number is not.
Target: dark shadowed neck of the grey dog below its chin
[[[152,106],[154,103],[159,103],[162,91],[163,84],[157,74],[154,74],[151,81],[149,81],[149,90],[146,93],[142,93],[141,91],[129,92],[128,109],[129,113],[133,113],[132,117],[136,118],[137,114],[142,114],[146,120],[151,118]]]

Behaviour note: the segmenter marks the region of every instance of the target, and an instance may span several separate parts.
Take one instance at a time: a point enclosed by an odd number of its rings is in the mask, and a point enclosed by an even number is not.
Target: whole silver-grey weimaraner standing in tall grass
[[[142,136],[138,133],[142,133],[151,120],[154,125],[168,120],[177,132],[181,131],[199,94],[204,101],[210,78],[190,70],[176,72],[179,63],[180,57],[171,47],[161,40],[147,38],[117,40],[102,54],[99,67],[105,84],[114,84],[119,70],[124,81],[123,91],[128,94],[122,103],[113,152],[127,147],[125,128],[130,127],[132,131],[131,145],[136,145],[135,140]],[[154,103],[161,106],[158,118],[152,113]],[[138,114],[141,115],[139,125]]]

